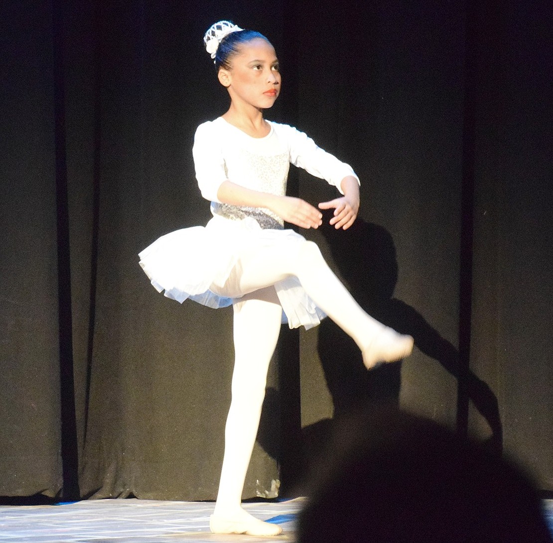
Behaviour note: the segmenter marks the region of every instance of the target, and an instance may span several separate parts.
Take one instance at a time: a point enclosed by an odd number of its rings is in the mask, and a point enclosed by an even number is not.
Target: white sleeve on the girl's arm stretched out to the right
[[[353,176],[359,183],[359,177],[353,168],[338,160],[334,155],[321,149],[307,134],[289,125],[280,125],[285,131],[290,151],[290,162],[303,168],[315,177],[324,179],[343,194],[340,183],[343,178]]]

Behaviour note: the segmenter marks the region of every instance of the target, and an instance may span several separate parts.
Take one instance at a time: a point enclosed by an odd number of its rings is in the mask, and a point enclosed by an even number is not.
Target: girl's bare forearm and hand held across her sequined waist
[[[300,228],[318,228],[322,224],[321,212],[301,198],[277,196],[276,194],[269,194],[267,192],[254,191],[228,180],[223,181],[218,188],[217,199],[222,203],[230,205],[270,209],[287,223],[295,224],[296,226],[300,226]]]

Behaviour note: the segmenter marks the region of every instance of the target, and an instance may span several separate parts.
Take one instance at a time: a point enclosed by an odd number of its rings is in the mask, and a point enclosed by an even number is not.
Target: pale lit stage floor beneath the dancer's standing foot
[[[0,506],[0,541],[31,543],[259,543],[295,541],[296,516],[304,500],[247,503],[260,519],[281,524],[277,537],[218,535],[209,531],[213,503],[138,499],[84,500],[61,505]],[[553,500],[544,500],[553,534]]]

